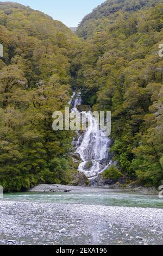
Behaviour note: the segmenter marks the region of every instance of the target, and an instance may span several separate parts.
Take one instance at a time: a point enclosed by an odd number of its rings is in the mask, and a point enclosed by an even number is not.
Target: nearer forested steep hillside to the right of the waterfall
[[[122,174],[158,185],[163,179],[163,59],[158,54],[163,5],[115,2],[123,3],[123,11],[114,15],[114,22],[106,14],[115,5],[106,1],[78,28],[78,34],[80,29],[91,33],[78,57],[78,87],[84,104],[112,112],[111,151]],[[134,2],[149,7],[125,11]]]

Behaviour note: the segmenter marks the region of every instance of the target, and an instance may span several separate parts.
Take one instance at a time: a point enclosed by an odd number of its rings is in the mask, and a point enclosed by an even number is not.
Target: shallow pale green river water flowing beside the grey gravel
[[[133,192],[9,193],[3,200],[163,209],[163,199]]]

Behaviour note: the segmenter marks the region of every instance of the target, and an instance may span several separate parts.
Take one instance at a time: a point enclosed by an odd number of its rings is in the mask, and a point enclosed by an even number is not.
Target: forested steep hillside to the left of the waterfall
[[[60,21],[0,3],[0,184],[6,191],[70,182],[72,135],[52,130],[52,113],[70,100],[78,42]]]

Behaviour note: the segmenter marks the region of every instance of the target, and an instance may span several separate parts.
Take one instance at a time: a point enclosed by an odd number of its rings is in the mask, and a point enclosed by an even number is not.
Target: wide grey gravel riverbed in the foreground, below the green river
[[[163,209],[0,201],[0,245],[162,245]]]

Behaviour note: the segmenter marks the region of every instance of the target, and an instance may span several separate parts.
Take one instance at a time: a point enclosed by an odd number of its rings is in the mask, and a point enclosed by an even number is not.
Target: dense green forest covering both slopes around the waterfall
[[[163,4],[108,0],[76,34],[59,21],[0,2],[0,185],[26,190],[69,184],[77,171],[73,132],[53,131],[52,113],[72,90],[83,104],[112,112],[118,172],[141,184],[163,180]]]

